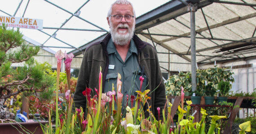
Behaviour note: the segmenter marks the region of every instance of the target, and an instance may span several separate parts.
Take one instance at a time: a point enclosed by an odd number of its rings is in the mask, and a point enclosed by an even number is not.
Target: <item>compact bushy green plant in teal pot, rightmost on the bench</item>
[[[219,82],[218,84],[218,93],[220,94],[220,96],[218,96],[218,103],[220,103],[221,101],[227,101],[228,100],[228,94],[230,92],[230,87],[231,84],[228,81],[223,81],[221,80],[221,82]]]

